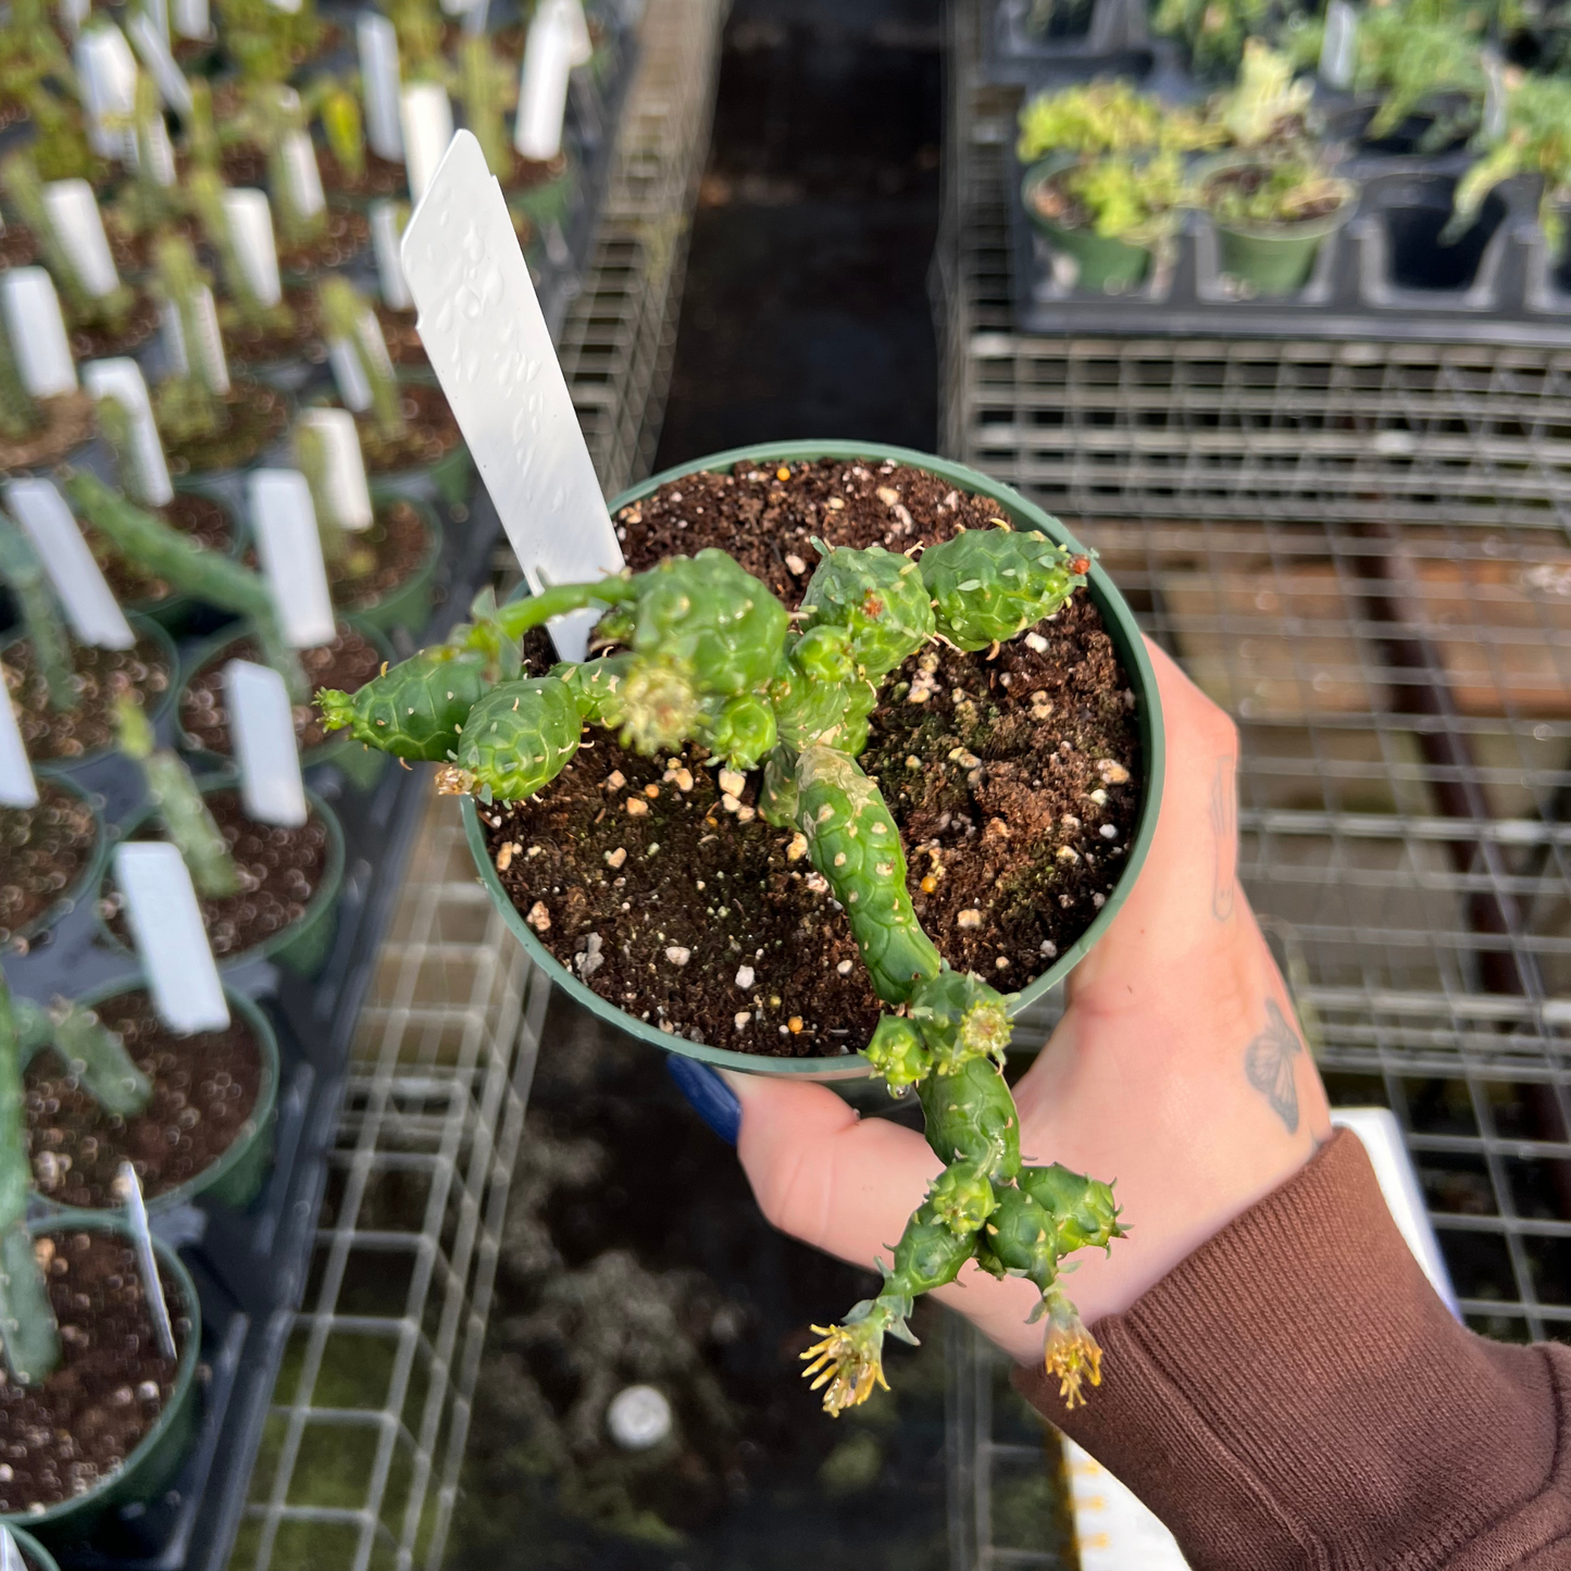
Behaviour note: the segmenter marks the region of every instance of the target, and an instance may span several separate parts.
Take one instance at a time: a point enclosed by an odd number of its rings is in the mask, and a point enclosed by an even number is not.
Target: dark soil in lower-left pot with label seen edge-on
[[[60,1323],[61,1364],[38,1386],[0,1379],[0,1511],[58,1505],[113,1474],[174,1395],[179,1364],[160,1357],[141,1295],[137,1254],[113,1233],[49,1233],[49,1298]],[[179,1285],[163,1299],[181,1349],[192,1323]]]

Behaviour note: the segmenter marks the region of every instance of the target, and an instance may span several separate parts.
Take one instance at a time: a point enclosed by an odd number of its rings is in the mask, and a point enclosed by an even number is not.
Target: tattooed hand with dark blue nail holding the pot
[[[1167,724],[1156,837],[1068,1007],[1015,1087],[1021,1152],[1115,1180],[1130,1236],[1076,1255],[1065,1279],[1092,1324],[1128,1309],[1185,1255],[1291,1177],[1329,1136],[1320,1076],[1238,886],[1238,734],[1152,646]],[[738,1153],[764,1214],[853,1265],[889,1258],[941,1163],[913,1130],[861,1120],[823,1086],[726,1075]],[[939,1299],[1020,1362],[1031,1284],[974,1265]],[[842,1306],[825,1306],[825,1315]]]

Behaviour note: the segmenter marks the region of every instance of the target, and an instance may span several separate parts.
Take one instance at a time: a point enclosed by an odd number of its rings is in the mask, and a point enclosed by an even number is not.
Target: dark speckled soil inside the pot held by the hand
[[[619,514],[617,533],[635,569],[720,545],[795,606],[812,534],[902,550],[996,515],[916,470],[826,462],[784,481],[687,476]],[[900,826],[924,928],[950,965],[1005,991],[1090,925],[1139,812],[1134,701],[1100,614],[1081,594],[1035,636],[1042,649],[1018,638],[993,658],[913,655],[861,757]],[[743,807],[756,790],[753,778]],[[482,809],[514,903],[603,998],[738,1051],[856,1051],[878,1002],[845,917],[806,858],[786,856],[789,833],[745,818],[723,809],[702,749],[668,767],[605,734],[533,801]]]

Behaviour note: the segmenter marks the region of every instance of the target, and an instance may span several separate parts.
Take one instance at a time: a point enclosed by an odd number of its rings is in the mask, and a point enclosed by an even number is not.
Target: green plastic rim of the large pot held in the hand
[[[1060,540],[1065,545],[1082,550],[1075,536],[1071,536],[1057,518],[1026,501],[1024,496],[1010,490],[1007,485],[1001,485],[998,481],[988,479],[985,474],[979,474],[976,470],[966,468],[963,463],[952,463],[947,459],[935,459],[930,454],[914,452],[910,448],[891,448],[877,441],[771,441],[760,443],[754,448],[732,448],[726,452],[715,452],[705,459],[694,459],[691,463],[666,470],[663,474],[655,474],[641,485],[635,485],[632,490],[622,492],[622,495],[610,504],[611,515],[614,517],[622,507],[627,507],[635,501],[641,501],[650,492],[668,484],[669,481],[682,479],[682,476],[693,474],[699,470],[729,471],[738,463],[746,465],[748,468],[753,468],[754,465],[759,468],[768,468],[776,463],[798,463],[814,459],[861,459],[867,463],[894,460],[895,463],[906,463],[911,468],[919,468],[928,474],[936,474],[938,478],[949,481],[957,490],[990,496],[998,503],[1004,517],[1007,517],[1010,523],[1020,529],[1042,529],[1042,533],[1049,539]],[[1145,652],[1145,639],[1141,636],[1139,625],[1134,621],[1134,613],[1125,603],[1123,595],[1119,594],[1112,580],[1095,562],[1090,569],[1089,588],[1092,602],[1101,613],[1103,622],[1106,624],[1108,636],[1112,639],[1114,649],[1117,649],[1119,658],[1123,661],[1123,669],[1130,676],[1137,701],[1136,715],[1139,716],[1141,726],[1141,757],[1145,765],[1145,779],[1141,793],[1141,814],[1134,828],[1134,836],[1130,840],[1130,855],[1125,861],[1123,873],[1119,878],[1119,886],[1112,891],[1108,897],[1108,903],[1097,913],[1095,921],[1086,928],[1084,933],[1081,933],[1075,944],[1059,955],[1059,958],[1046,971],[1043,971],[1042,976],[1023,987],[1020,993],[1013,996],[1010,1013],[1015,1016],[1020,1016],[1023,1012],[1031,1009],[1032,1004],[1043,998],[1043,994],[1057,987],[1059,982],[1062,982],[1090,952],[1097,939],[1101,938],[1101,935],[1112,925],[1112,919],[1123,908],[1123,902],[1134,888],[1134,880],[1145,861],[1145,853],[1150,850],[1152,837],[1156,834],[1156,812],[1163,798],[1167,746],[1163,731],[1161,699],[1156,693],[1156,674],[1152,669],[1150,655]],[[649,1021],[639,1020],[636,1015],[628,1015],[617,1009],[575,977],[534,935],[534,930],[523,921],[523,913],[507,897],[507,891],[503,889],[501,880],[496,877],[496,869],[492,866],[490,856],[485,851],[485,837],[481,831],[479,814],[476,812],[473,796],[462,798],[462,812],[463,831],[470,842],[470,853],[474,858],[481,883],[485,886],[487,894],[490,894],[492,903],[496,906],[501,919],[507,924],[518,943],[528,950],[529,958],[559,988],[606,1024],[616,1026],[628,1035],[638,1037],[641,1042],[647,1042],[652,1046],[663,1048],[666,1053],[677,1053],[687,1059],[699,1059],[704,1064],[713,1064],[727,1070],[742,1070],[751,1075],[786,1075],[798,1079],[831,1081],[859,1079],[872,1073],[872,1067],[861,1053],[822,1059],[768,1059],[753,1053],[732,1053],[726,1048],[715,1048],[702,1042],[688,1042],[683,1037],[668,1035],[658,1027],[649,1024]]]

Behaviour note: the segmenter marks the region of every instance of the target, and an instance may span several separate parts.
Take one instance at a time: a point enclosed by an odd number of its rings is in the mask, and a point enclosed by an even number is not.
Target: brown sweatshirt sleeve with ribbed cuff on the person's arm
[[[1571,1348],[1456,1324],[1353,1134],[1093,1329],[1084,1408],[1015,1382],[1194,1571],[1571,1568]]]

